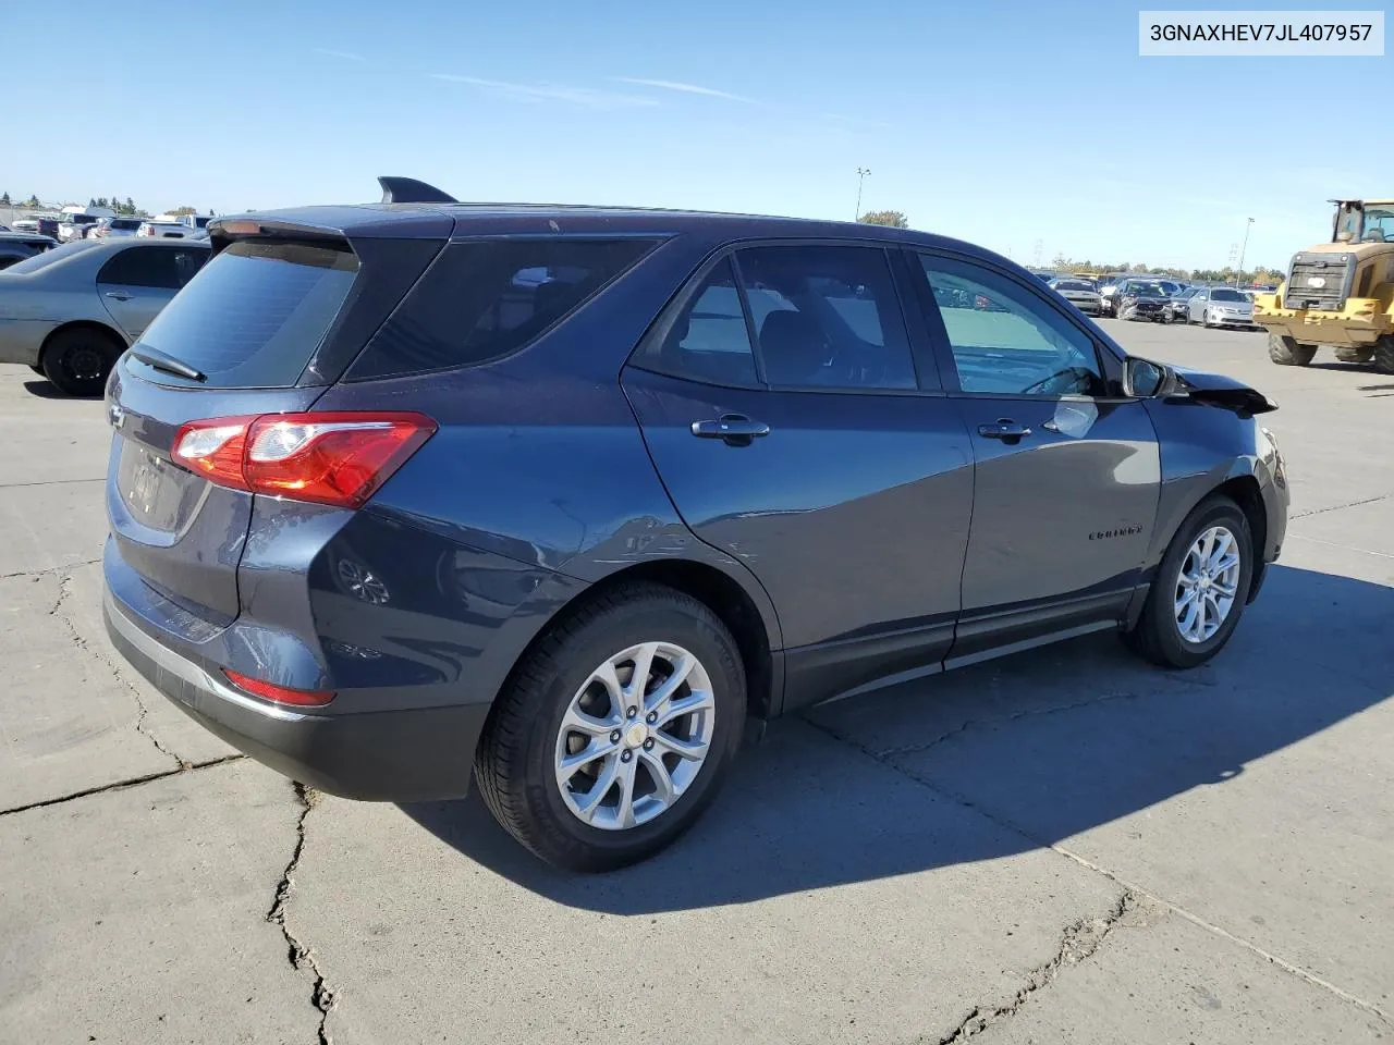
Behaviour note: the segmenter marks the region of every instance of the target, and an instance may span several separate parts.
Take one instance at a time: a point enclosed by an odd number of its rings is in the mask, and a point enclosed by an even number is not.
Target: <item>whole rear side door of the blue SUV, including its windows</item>
[[[736,251],[623,376],[683,520],[775,603],[785,708],[937,665],[952,640],[972,450],[903,266],[873,245]]]

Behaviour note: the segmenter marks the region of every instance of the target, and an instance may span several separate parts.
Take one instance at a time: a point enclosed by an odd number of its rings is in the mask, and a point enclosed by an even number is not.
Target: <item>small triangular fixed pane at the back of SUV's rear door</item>
[[[634,362],[704,385],[744,389],[760,383],[729,258],[707,273],[668,332],[650,341]]]

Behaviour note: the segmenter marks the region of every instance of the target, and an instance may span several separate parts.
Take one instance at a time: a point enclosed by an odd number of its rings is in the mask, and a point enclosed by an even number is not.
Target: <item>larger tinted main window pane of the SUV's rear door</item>
[[[914,389],[901,302],[878,247],[751,247],[736,261],[765,382],[786,389]]]

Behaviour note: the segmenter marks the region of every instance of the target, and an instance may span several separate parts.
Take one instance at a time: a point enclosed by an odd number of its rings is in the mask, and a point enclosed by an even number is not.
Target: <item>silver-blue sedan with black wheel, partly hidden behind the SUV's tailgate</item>
[[[208,259],[206,242],[74,240],[0,272],[0,362],[70,396],[102,392],[116,358]]]

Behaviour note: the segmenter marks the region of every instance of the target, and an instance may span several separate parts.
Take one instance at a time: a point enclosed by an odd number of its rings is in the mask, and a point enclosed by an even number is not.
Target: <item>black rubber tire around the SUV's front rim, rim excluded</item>
[[[1185,610],[1181,609],[1182,592],[1189,591],[1185,584],[1188,575],[1196,574],[1195,545],[1209,532],[1221,531],[1234,539],[1238,550],[1238,571],[1231,578],[1230,588],[1232,596],[1224,609],[1223,619],[1209,635],[1199,641],[1188,640],[1182,634]],[[1186,521],[1177,529],[1177,535],[1167,548],[1161,564],[1153,578],[1151,591],[1147,592],[1147,602],[1143,605],[1142,616],[1136,627],[1125,633],[1124,640],[1140,656],[1163,667],[1196,667],[1218,653],[1230,641],[1239,617],[1243,616],[1243,606],[1249,598],[1249,584],[1253,578],[1253,536],[1249,532],[1249,520],[1239,506],[1230,497],[1216,493],[1200,502]],[[1220,587],[1211,588],[1210,578],[1204,578],[1204,592],[1218,592]],[[1203,613],[1209,613],[1209,606],[1202,605]]]

